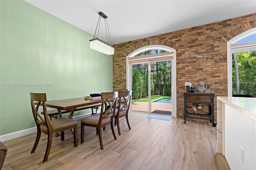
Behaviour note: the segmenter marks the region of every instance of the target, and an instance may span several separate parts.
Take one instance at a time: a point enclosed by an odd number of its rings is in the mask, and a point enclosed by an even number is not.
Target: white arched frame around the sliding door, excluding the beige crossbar
[[[171,87],[171,93],[172,93],[172,117],[177,117],[177,95],[176,95],[176,50],[165,46],[165,45],[148,45],[145,47],[141,47],[139,49],[136,49],[135,51],[133,51],[132,53],[130,53],[127,57],[126,57],[126,88],[127,89],[132,89],[132,65],[136,64],[136,63],[129,63],[128,58],[129,57],[134,57],[137,54],[143,52],[143,51],[148,51],[148,50],[152,50],[152,49],[162,49],[165,51],[172,51],[173,55],[172,58],[170,58],[169,60],[171,60],[172,63],[172,67],[171,67],[171,79],[172,79],[172,87]],[[157,59],[156,59],[157,60]],[[149,65],[150,65],[151,61],[148,61]],[[145,61],[144,61],[145,63]],[[146,62],[147,63],[147,62]],[[149,69],[151,69],[149,67]],[[149,70],[150,71],[150,70]],[[150,75],[148,76],[150,78]],[[150,81],[149,81],[149,85],[150,85]],[[150,87],[150,86],[149,86]],[[149,88],[151,89],[151,88]],[[151,91],[149,91],[149,93],[151,93]],[[151,94],[148,94],[151,96]],[[149,111],[151,109],[151,102],[149,102]],[[150,111],[151,112],[151,111]]]

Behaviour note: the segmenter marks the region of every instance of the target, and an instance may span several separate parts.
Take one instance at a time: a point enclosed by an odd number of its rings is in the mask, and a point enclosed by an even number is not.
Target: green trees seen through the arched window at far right
[[[232,89],[256,97],[256,51],[232,53]]]

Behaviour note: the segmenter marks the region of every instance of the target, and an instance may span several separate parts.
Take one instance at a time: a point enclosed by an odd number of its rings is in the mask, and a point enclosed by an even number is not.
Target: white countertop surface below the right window
[[[256,120],[256,98],[255,97],[217,97],[217,100],[241,111]]]

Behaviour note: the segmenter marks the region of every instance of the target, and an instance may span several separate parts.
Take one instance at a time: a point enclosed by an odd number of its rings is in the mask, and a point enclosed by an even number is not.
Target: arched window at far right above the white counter
[[[232,95],[256,97],[256,34],[231,44]]]

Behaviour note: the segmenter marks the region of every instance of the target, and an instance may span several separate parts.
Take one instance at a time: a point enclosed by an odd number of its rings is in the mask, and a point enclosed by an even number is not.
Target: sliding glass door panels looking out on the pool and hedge
[[[148,61],[131,67],[132,111],[172,115],[171,61]]]

